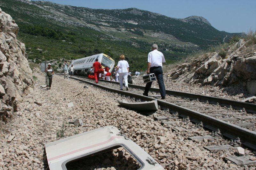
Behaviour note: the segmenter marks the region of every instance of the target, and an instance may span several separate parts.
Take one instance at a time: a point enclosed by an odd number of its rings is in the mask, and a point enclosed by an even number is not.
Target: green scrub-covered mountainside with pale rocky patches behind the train
[[[170,18],[136,8],[102,10],[44,1],[2,0],[1,8],[20,27],[28,58],[36,63],[106,53],[119,60],[124,54],[132,69],[146,68],[152,43],[168,63],[215,45],[233,35],[218,31],[203,17]],[[135,62],[136,61],[136,62]]]

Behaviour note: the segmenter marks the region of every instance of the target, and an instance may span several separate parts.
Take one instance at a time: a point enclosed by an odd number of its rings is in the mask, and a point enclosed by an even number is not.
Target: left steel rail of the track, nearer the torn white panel
[[[125,96],[130,96],[130,97],[134,97],[134,98],[142,99],[142,100],[146,100],[146,101],[157,100],[158,105],[162,109],[169,108],[169,110],[171,110],[172,113],[178,112],[180,117],[188,116],[190,121],[195,122],[195,123],[203,122],[204,128],[206,128],[206,129],[210,129],[213,131],[217,131],[217,129],[220,129],[222,136],[227,137],[229,139],[236,140],[236,138],[239,137],[241,139],[243,145],[256,151],[256,132],[254,132],[254,131],[241,128],[234,124],[216,119],[214,117],[202,114],[200,112],[197,112],[197,111],[185,108],[185,107],[181,107],[181,106],[166,102],[164,100],[153,99],[151,97],[143,96],[140,94],[135,94],[135,93],[127,92],[127,91],[112,89],[112,88],[105,87],[105,86],[102,86],[99,84],[88,82],[86,80],[81,80],[79,78],[73,78],[73,79],[83,81],[85,83],[94,85],[101,89],[104,89],[104,90],[107,90],[110,92],[116,92],[116,93],[119,93],[119,94],[122,94]],[[233,100],[230,100],[230,101],[233,101]]]

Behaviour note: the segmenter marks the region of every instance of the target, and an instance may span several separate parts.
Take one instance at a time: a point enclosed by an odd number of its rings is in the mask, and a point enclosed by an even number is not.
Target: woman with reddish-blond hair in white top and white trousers
[[[119,73],[119,84],[120,84],[120,90],[123,90],[123,80],[124,80],[124,86],[126,87],[126,90],[128,90],[128,73],[129,73],[129,64],[127,61],[124,60],[124,55],[120,55],[120,61],[117,64],[116,70]]]

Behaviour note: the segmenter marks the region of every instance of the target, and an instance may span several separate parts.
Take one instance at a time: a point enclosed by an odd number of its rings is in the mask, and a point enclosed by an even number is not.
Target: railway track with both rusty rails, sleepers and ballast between
[[[209,129],[212,136],[227,137],[235,145],[242,144],[256,151],[255,104],[168,90],[166,99],[161,100],[156,88],[151,88],[147,97],[142,95],[143,86],[129,84],[129,91],[121,91],[118,82],[100,80],[99,84],[95,84],[85,77],[76,76],[74,79],[118,93],[130,101],[157,100],[161,110],[164,110],[163,124],[168,124],[168,120],[164,119],[180,117],[184,122],[194,122],[196,127]]]

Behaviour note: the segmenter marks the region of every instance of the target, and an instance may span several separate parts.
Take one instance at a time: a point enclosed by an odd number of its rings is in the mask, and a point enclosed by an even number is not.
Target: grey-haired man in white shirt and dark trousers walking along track
[[[163,69],[162,63],[165,63],[164,55],[160,51],[157,50],[158,47],[156,44],[152,45],[152,51],[148,53],[148,70],[147,74],[155,73],[157,78],[159,90],[162,99],[165,99],[165,86],[164,86],[164,77],[163,77]],[[152,85],[152,82],[148,82],[145,86],[145,90],[143,95],[148,96],[149,89]]]

